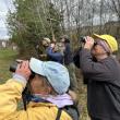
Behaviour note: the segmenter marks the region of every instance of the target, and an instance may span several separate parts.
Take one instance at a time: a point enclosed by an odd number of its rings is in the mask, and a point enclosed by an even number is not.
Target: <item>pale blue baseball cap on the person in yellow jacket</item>
[[[31,58],[29,68],[33,72],[46,76],[58,94],[64,94],[70,86],[69,72],[65,67],[53,61],[40,61]]]

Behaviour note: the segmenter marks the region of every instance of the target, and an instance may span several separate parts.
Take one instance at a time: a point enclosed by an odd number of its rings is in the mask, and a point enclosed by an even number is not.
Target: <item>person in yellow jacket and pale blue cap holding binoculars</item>
[[[31,58],[10,70],[13,77],[0,85],[0,120],[79,120],[68,94],[69,72],[62,64]],[[23,93],[25,109],[17,111]]]

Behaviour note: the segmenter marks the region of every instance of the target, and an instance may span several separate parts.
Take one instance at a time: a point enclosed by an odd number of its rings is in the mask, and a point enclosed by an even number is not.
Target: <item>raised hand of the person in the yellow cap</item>
[[[91,49],[93,48],[93,46],[94,46],[94,39],[93,39],[92,37],[87,36],[87,37],[85,38],[84,48],[91,50]]]

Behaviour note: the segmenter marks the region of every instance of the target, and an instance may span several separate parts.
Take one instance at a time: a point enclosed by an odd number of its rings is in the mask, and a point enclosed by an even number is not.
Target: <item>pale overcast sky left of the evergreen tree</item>
[[[14,10],[12,1],[13,0],[0,0],[0,39],[9,38],[5,20],[8,15],[8,10]]]

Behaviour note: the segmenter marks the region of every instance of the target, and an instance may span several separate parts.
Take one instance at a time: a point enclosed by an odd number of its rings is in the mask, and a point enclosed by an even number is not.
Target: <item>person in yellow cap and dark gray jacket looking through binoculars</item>
[[[118,43],[110,35],[85,37],[74,56],[87,84],[87,109],[92,120],[120,120],[120,63],[112,56]]]

